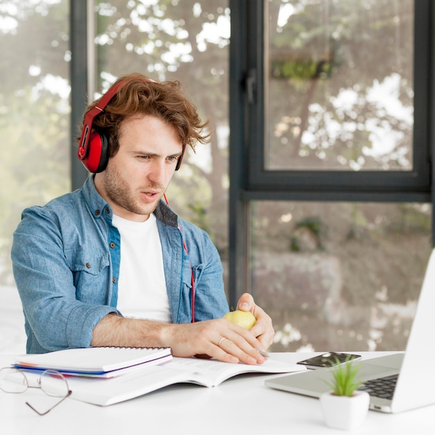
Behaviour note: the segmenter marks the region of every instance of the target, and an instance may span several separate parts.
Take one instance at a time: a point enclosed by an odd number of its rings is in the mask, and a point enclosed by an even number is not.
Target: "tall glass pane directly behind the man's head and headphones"
[[[167,190],[170,206],[205,229],[225,261],[228,252],[227,0],[97,2],[97,89],[142,72],[178,80],[213,128],[211,143],[188,150]]]

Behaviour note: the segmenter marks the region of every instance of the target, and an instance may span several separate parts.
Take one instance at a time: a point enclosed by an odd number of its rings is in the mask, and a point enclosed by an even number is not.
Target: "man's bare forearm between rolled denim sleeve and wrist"
[[[110,313],[92,331],[91,345],[122,347],[161,347],[162,330],[167,326],[154,320],[123,318]]]

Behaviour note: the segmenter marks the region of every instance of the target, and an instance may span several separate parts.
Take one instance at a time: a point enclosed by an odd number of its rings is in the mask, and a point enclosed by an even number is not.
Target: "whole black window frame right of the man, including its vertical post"
[[[252,201],[433,202],[435,6],[414,11],[413,170],[265,170],[264,3],[230,0],[229,299],[250,290]],[[432,213],[434,245],[434,213]],[[244,272],[240,274],[240,270]]]

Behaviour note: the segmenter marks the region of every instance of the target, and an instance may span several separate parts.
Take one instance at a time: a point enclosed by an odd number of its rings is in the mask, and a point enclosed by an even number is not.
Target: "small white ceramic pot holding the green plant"
[[[356,391],[353,396],[323,393],[320,396],[325,423],[335,429],[350,430],[362,424],[368,413],[370,396],[366,391]]]

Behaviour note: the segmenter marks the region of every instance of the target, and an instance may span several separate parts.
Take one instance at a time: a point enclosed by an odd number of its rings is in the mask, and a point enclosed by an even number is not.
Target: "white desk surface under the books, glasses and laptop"
[[[370,358],[388,352],[362,352]],[[295,363],[313,354],[276,353],[273,358]],[[0,355],[0,367],[13,356]],[[243,375],[220,386],[177,385],[127,402],[97,407],[68,398],[46,416],[38,416],[26,400],[41,404],[44,394],[0,391],[0,433],[7,435],[88,434],[345,434],[323,422],[318,400],[265,387],[270,376]],[[435,434],[435,405],[400,414],[369,411],[352,434]]]

